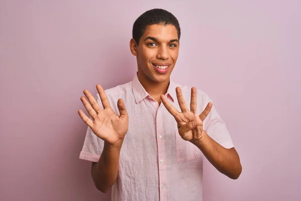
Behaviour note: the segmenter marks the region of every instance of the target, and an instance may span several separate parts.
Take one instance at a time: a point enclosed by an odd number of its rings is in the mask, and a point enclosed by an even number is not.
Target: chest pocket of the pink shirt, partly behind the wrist
[[[183,140],[179,131],[175,131],[176,145],[177,145],[177,162],[184,163],[186,161],[194,160],[198,157],[199,149],[197,146],[189,141]]]

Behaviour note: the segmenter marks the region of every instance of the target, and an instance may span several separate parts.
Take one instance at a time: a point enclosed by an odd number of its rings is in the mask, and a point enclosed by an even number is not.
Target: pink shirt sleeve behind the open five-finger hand
[[[95,96],[99,106],[103,109],[99,95]],[[92,120],[92,118],[90,117]],[[98,162],[100,155],[102,153],[104,146],[104,141],[96,136],[90,127],[87,128],[86,137],[82,151],[80,152],[79,158],[83,160],[88,160],[92,162]]]

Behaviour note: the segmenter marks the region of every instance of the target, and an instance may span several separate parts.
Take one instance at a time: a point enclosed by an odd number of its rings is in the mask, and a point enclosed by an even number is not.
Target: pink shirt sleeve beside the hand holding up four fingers
[[[203,99],[202,109],[204,110],[209,102],[213,103],[210,97],[205,94]],[[201,113],[203,112],[201,111]],[[204,121],[204,130],[206,133],[215,140],[221,146],[230,149],[234,147],[229,131],[226,127],[225,122],[222,120],[220,115],[218,114],[214,104],[209,115],[206,117]]]

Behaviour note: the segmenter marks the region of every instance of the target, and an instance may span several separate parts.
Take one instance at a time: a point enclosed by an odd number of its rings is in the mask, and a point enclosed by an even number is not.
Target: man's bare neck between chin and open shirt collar
[[[164,82],[155,82],[149,77],[147,77],[144,73],[139,72],[138,70],[138,79],[143,86],[143,88],[146,90],[146,92],[155,98],[157,101],[160,100],[161,94],[166,94],[170,79],[164,81]]]

